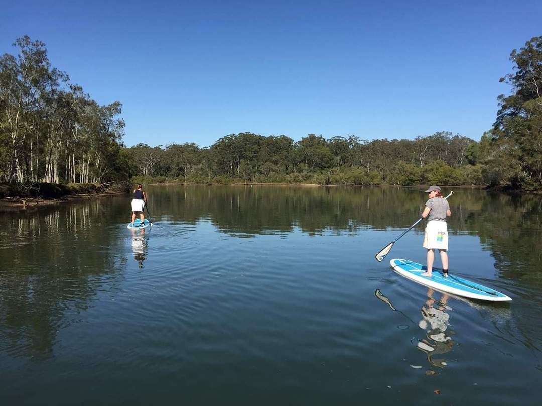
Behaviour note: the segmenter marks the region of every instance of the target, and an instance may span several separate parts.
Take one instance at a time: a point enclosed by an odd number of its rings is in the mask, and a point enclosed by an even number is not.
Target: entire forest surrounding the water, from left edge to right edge
[[[542,37],[513,50],[493,126],[480,141],[450,131],[409,139],[300,141],[251,132],[195,143],[122,143],[122,104],[99,105],[28,36],[0,57],[0,182],[488,185],[542,190]],[[491,128],[491,129],[490,129]]]

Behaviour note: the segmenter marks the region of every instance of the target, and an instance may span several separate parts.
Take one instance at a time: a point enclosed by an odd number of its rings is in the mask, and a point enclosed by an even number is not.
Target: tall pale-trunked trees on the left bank
[[[24,36],[0,57],[0,181],[120,180],[122,104],[99,105]],[[119,170],[120,169],[120,170]],[[124,172],[124,173],[123,173]]]

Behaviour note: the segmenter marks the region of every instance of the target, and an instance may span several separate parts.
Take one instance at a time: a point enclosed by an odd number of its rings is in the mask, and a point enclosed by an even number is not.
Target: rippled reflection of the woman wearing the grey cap
[[[422,306],[422,319],[418,326],[427,331],[426,337],[418,341],[417,347],[427,353],[427,360],[431,365],[439,368],[447,366],[445,359],[434,358],[437,354],[444,354],[451,350],[454,341],[447,335],[450,315],[446,312],[451,310],[446,305],[449,296],[442,294],[440,301],[436,300],[433,295],[434,290],[429,288],[427,291],[427,302]]]

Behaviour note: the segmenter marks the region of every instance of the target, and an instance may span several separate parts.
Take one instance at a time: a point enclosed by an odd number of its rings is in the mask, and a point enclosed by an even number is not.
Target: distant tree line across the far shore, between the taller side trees
[[[451,132],[367,141],[309,134],[230,134],[209,148],[193,143],[129,148],[132,175],[159,182],[443,185],[483,182],[479,143]]]

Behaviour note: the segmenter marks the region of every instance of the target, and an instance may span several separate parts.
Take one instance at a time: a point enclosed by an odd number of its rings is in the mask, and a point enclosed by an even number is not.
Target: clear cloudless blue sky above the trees
[[[0,54],[29,35],[124,141],[228,134],[479,140],[509,54],[542,35],[542,1],[0,1]]]

